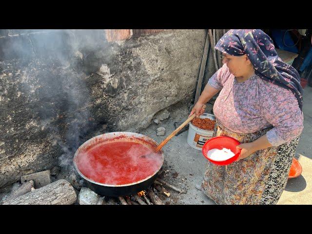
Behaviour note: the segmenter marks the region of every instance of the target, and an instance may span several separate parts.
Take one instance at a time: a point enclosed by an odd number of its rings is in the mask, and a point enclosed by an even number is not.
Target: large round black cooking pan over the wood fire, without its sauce
[[[99,135],[97,137],[93,137],[89,139],[88,141],[84,142],[76,151],[75,156],[74,156],[74,167],[77,173],[84,179],[85,184],[88,188],[93,190],[99,195],[104,195],[104,196],[125,196],[125,195],[134,195],[137,194],[138,192],[147,189],[156,179],[156,176],[158,174],[158,171],[160,170],[163,162],[164,162],[164,153],[162,150],[159,152],[161,153],[161,165],[159,166],[158,170],[153,174],[150,175],[143,180],[137,181],[135,183],[131,184],[123,184],[123,185],[109,185],[109,184],[102,184],[98,183],[96,181],[93,181],[86,176],[84,176],[78,169],[77,163],[76,163],[76,158],[77,155],[82,152],[84,149],[89,148],[95,144],[98,144],[99,142],[105,142],[109,140],[120,140],[120,141],[134,141],[137,143],[141,143],[146,145],[147,147],[157,147],[157,143],[155,140],[146,137],[141,134],[137,133],[129,133],[129,132],[114,132],[114,133],[106,133]]]

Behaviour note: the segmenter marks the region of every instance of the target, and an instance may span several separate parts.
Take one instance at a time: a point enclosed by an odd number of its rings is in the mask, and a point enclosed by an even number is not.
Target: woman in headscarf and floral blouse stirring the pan
[[[228,166],[208,162],[201,189],[217,204],[276,204],[303,130],[299,75],[258,29],[230,30],[215,49],[223,55],[223,66],[190,115],[201,115],[221,90],[214,104],[214,136],[233,137],[242,150]]]

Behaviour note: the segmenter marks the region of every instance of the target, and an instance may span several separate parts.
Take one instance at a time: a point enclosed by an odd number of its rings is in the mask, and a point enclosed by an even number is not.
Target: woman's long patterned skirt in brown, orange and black
[[[248,143],[270,129],[237,134],[217,123],[214,137],[229,136]],[[276,204],[286,187],[298,142],[299,137],[278,147],[256,151],[227,166],[208,161],[201,188],[216,204]]]

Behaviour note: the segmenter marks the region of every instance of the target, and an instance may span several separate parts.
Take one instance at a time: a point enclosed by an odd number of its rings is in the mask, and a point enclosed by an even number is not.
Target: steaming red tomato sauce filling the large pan
[[[154,175],[162,155],[131,141],[98,143],[78,153],[76,164],[87,178],[107,185],[135,183]]]

